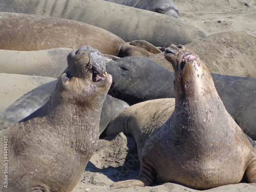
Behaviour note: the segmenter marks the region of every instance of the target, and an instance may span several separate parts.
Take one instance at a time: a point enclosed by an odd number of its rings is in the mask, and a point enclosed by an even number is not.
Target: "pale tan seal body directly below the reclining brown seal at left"
[[[70,48],[53,48],[38,51],[1,49],[0,71],[9,74],[58,78],[67,68],[67,55],[73,50]]]

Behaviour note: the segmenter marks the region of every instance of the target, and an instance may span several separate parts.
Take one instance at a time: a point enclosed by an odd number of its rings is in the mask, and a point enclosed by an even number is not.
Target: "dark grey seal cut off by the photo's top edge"
[[[176,5],[169,0],[104,0],[107,2],[113,2],[125,6],[135,7],[139,9],[144,9],[148,11],[154,11],[157,13],[162,13],[165,15],[173,16],[179,18],[179,10]]]

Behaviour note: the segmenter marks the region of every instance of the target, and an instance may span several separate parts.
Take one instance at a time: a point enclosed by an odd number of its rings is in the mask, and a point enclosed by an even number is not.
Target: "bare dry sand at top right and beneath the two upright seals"
[[[207,35],[224,31],[244,31],[245,33],[256,36],[255,0],[175,0],[173,2],[179,8],[181,20],[193,24]],[[123,134],[109,139],[112,140],[101,139],[99,141],[98,150],[88,163],[75,192],[110,191],[110,184],[119,180],[131,179],[138,175],[139,161],[134,140]],[[200,190],[174,183],[163,183],[147,187],[113,189],[111,191],[195,192]],[[224,185],[203,191],[254,192],[256,191],[256,183]]]

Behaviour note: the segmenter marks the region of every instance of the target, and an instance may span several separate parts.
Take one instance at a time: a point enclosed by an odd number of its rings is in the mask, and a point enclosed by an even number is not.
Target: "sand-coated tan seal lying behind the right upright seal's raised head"
[[[245,31],[227,31],[197,39],[186,48],[196,52],[211,73],[256,78],[254,45],[256,37]],[[163,59],[164,52],[148,58],[173,71],[169,62]]]

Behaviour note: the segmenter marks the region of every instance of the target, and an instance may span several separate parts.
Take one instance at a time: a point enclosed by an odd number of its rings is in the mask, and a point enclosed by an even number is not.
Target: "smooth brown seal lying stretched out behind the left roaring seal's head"
[[[161,52],[147,41],[142,40],[139,47],[132,46],[109,31],[75,20],[1,12],[0,24],[0,49],[36,51],[88,45],[114,56],[150,56]]]

